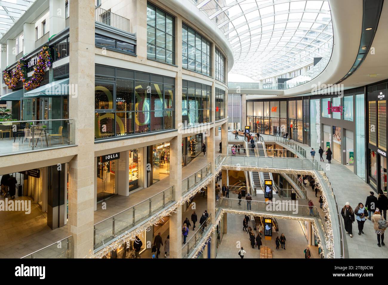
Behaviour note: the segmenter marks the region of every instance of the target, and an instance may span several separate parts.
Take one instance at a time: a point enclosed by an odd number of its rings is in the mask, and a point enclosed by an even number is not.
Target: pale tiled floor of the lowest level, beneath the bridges
[[[252,248],[246,231],[242,230],[242,215],[227,214],[228,232],[222,237],[222,241],[217,250],[216,258],[240,258],[238,255],[241,245],[246,251],[244,258],[260,258],[260,250],[257,247]],[[318,247],[309,246],[307,239],[298,221],[277,219],[279,225],[279,233],[272,233],[272,240],[265,240],[262,237],[262,246],[270,247],[272,250],[272,258],[305,258],[303,251],[306,247],[310,247],[311,258],[319,258]],[[284,233],[286,237],[286,250],[279,247],[276,250],[275,238]],[[258,232],[255,231],[255,236]]]

